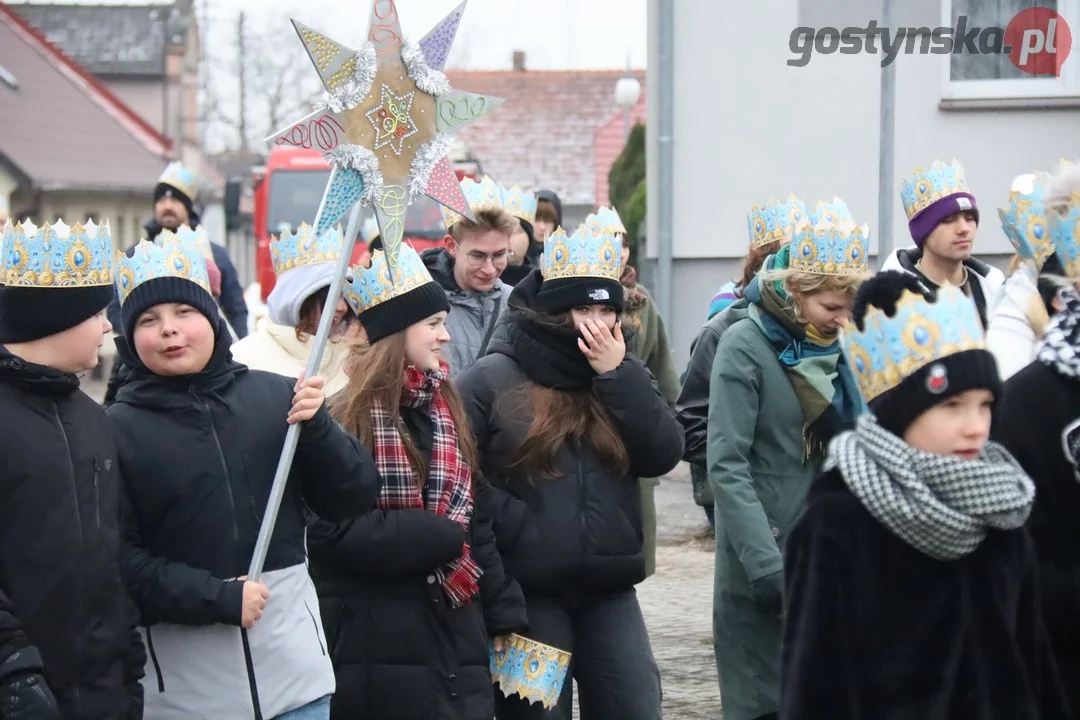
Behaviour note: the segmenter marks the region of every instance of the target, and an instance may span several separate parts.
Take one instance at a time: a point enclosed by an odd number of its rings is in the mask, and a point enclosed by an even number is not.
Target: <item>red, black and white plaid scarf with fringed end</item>
[[[378,402],[372,408],[375,463],[382,476],[378,506],[381,510],[427,508],[460,522],[468,530],[473,511],[472,470],[458,452],[454,416],[440,391],[448,375],[449,367],[445,362],[441,363],[436,372],[420,372],[411,365],[405,368],[402,405],[427,407],[434,426],[428,485],[424,488],[427,498],[421,498],[420,478],[408,461],[405,443],[391,422],[390,413]],[[461,548],[461,557],[435,570],[443,592],[455,608],[472,601],[481,573],[468,542]]]

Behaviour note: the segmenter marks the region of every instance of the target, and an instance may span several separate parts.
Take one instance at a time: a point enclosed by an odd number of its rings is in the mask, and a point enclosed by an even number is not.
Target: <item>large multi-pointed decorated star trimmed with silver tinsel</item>
[[[474,219],[447,154],[453,135],[502,99],[456,91],[443,72],[465,2],[415,43],[402,36],[393,0],[374,0],[359,50],[293,21],[326,93],[314,112],[269,139],[322,150],[335,168],[316,237],[357,202],[373,206],[395,268],[406,209],[421,194]]]

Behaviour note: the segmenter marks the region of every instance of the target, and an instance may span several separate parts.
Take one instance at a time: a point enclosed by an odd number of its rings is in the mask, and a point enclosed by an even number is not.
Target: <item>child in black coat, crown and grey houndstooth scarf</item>
[[[843,352],[867,400],[787,544],[784,720],[1072,717],[1024,522],[1035,487],[988,441],[1000,392],[974,302],[879,273]]]

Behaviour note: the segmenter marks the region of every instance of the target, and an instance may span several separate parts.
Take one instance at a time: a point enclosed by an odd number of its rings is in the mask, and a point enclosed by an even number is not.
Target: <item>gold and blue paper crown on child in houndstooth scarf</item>
[[[942,286],[934,302],[904,290],[892,317],[867,308],[863,329],[849,321],[840,342],[867,403],[934,361],[986,349],[974,301],[954,285]]]

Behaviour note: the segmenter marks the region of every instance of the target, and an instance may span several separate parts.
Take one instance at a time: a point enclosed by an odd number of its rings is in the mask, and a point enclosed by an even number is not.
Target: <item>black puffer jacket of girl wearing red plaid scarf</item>
[[[402,408],[430,458],[427,412]],[[477,491],[483,481],[474,478]],[[468,535],[426,510],[374,510],[354,520],[316,520],[308,531],[337,692],[334,719],[490,720],[490,637],[526,628],[525,598],[502,571],[490,518],[478,510]],[[451,608],[433,571],[468,539],[484,574],[480,597]]]

